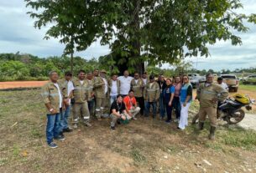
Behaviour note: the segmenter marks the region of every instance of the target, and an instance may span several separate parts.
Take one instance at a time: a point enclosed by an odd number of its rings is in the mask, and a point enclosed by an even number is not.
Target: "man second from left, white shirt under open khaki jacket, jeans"
[[[63,132],[71,132],[71,128],[69,127],[69,117],[71,114],[71,97],[73,96],[74,85],[72,82],[72,74],[71,72],[65,72],[65,79],[60,79],[59,84],[63,89],[63,92],[67,95],[65,101],[65,111],[62,112],[60,116],[61,127]]]

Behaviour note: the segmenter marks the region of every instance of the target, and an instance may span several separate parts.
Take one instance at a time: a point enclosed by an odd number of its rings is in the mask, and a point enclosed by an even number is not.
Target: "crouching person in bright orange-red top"
[[[140,108],[137,106],[137,101],[134,97],[133,89],[129,90],[128,95],[123,98],[123,102],[126,106],[126,111],[128,115],[132,117],[133,120],[137,120],[135,116],[136,114],[138,114]]]

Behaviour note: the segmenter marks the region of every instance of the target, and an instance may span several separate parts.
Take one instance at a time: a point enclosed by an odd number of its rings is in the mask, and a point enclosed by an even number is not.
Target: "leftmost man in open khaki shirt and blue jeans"
[[[50,72],[50,81],[42,87],[41,95],[47,109],[47,125],[46,125],[46,140],[50,148],[58,147],[54,143],[55,140],[65,140],[60,127],[60,113],[63,108],[64,96],[57,83],[59,75],[52,71]]]

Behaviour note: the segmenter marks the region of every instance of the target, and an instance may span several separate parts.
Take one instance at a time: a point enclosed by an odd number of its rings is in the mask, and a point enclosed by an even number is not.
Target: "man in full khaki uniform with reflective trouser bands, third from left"
[[[86,80],[86,72],[84,70],[80,70],[78,72],[78,79],[73,80],[74,90],[73,95],[75,99],[74,104],[74,128],[77,128],[79,114],[84,121],[86,126],[91,127],[89,123],[90,113],[88,109],[87,99],[91,97],[90,86],[88,81]]]

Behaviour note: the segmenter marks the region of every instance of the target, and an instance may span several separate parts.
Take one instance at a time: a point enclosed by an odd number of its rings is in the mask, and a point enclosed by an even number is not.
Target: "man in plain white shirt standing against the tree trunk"
[[[131,81],[133,77],[128,76],[128,70],[125,70],[123,72],[123,76],[119,76],[118,80],[120,80],[121,86],[120,86],[120,94],[124,96],[128,95],[129,90],[131,89]]]

